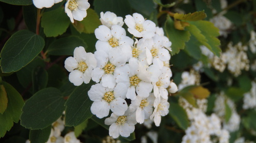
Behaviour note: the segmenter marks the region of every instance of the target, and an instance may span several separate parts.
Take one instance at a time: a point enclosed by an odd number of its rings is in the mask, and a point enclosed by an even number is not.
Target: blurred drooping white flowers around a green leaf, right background
[[[229,106],[231,109],[231,117],[228,120],[228,123],[225,122],[225,104]],[[241,118],[238,115],[236,111],[236,106],[232,100],[227,98],[224,93],[221,93],[216,101],[215,101],[215,107],[214,107],[214,112],[218,115],[218,117],[222,120],[223,122],[223,127],[224,129],[228,130],[229,132],[234,132],[239,129]]]

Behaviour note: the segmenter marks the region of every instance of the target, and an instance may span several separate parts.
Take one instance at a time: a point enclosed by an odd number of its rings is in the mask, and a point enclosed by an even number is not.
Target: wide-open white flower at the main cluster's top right
[[[156,24],[151,20],[145,20],[141,14],[126,15],[124,19],[128,31],[138,38],[152,38],[156,32]]]

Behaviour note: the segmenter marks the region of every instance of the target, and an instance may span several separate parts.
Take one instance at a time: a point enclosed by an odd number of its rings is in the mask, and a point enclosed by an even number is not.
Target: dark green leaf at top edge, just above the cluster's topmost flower
[[[127,0],[95,0],[93,6],[98,15],[100,15],[100,12],[110,11],[117,16],[125,17],[132,11]]]

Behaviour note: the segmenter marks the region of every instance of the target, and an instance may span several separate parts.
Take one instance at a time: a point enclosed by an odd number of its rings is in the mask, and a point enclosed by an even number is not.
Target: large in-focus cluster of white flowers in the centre
[[[100,14],[101,22],[95,30],[96,51],[87,53],[77,47],[74,57],[65,61],[74,85],[96,82],[88,91],[93,101],[91,112],[98,118],[108,117],[110,136],[128,137],[135,124],[153,120],[160,125],[161,116],[168,113],[168,91],[175,93],[177,85],[170,81],[169,68],[172,44],[162,28],[138,13],[121,17],[111,12]],[[139,40],[126,36],[123,24]],[[131,104],[130,104],[130,101]],[[126,101],[129,101],[128,104]]]

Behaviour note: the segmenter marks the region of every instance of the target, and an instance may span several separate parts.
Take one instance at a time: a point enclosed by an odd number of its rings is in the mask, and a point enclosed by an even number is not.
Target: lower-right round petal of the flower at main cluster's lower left
[[[124,112],[127,110],[128,106],[124,99],[116,98],[110,102],[110,109],[117,116],[124,115]]]

